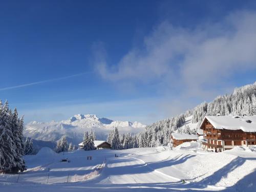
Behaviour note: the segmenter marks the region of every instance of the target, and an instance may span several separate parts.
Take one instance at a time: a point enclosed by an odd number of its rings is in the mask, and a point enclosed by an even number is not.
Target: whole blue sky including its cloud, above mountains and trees
[[[26,122],[148,124],[256,81],[255,1],[0,4],[0,99]]]

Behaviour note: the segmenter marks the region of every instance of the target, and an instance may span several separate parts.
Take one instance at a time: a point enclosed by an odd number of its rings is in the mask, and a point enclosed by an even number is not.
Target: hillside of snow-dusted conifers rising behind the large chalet
[[[206,115],[256,115],[256,82],[236,88],[230,95],[218,96],[211,102],[203,102],[194,109],[176,117],[163,119],[146,126],[145,131],[139,133],[139,147],[166,145],[170,134],[196,133],[197,129],[185,125],[185,119],[192,116],[192,123],[202,122]]]

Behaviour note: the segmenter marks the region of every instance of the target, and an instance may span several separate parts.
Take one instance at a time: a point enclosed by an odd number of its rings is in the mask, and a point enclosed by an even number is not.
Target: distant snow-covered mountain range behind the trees
[[[68,120],[60,122],[36,122],[25,125],[24,135],[43,141],[57,141],[66,135],[74,144],[81,142],[85,131],[94,130],[98,140],[105,140],[110,130],[119,128],[120,134],[130,132],[138,133],[146,125],[135,121],[113,121],[107,118],[98,118],[96,115],[74,115]]]

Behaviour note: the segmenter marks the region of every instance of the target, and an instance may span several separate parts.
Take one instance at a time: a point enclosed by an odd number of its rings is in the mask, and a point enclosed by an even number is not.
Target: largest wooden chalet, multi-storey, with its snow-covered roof
[[[256,144],[256,116],[206,116],[200,125],[203,148],[222,152],[234,146]]]

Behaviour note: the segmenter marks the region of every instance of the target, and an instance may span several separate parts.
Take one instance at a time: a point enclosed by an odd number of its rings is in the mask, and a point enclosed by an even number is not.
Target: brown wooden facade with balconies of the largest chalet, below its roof
[[[200,126],[203,130],[203,148],[208,151],[222,152],[230,150],[234,146],[249,146],[256,144],[256,132],[244,132],[242,130],[215,129],[215,127],[204,119]]]

